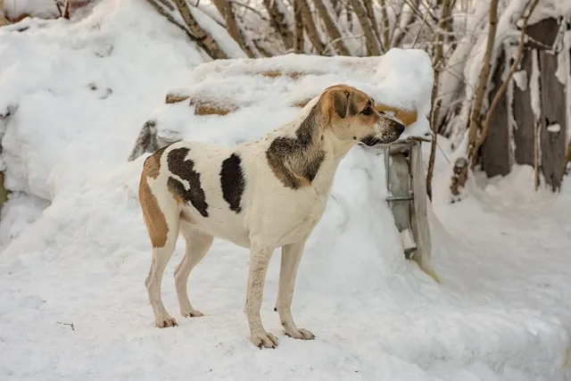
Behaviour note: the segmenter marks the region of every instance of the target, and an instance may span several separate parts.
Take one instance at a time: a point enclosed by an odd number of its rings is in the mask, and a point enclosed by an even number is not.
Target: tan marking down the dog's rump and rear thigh
[[[139,181],[139,203],[141,204],[143,219],[145,219],[145,225],[153,247],[163,247],[167,243],[167,235],[169,233],[167,219],[165,219],[161,206],[147,182],[147,178],[157,178],[159,176],[163,150],[160,151],[153,153],[146,159],[141,173],[141,180]]]

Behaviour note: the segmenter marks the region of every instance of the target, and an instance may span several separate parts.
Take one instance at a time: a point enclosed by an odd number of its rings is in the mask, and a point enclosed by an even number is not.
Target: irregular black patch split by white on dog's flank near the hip
[[[208,217],[208,203],[206,203],[206,196],[200,184],[200,173],[194,170],[194,162],[186,159],[189,152],[188,148],[176,148],[167,156],[170,172],[188,181],[188,189],[178,178],[173,177],[169,178],[167,186],[187,203],[192,203],[203,217]]]

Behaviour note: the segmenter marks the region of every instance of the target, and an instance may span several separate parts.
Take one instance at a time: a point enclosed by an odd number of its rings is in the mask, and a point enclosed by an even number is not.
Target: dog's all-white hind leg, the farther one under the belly
[[[192,224],[181,220],[180,232],[186,239],[185,257],[178,264],[175,270],[175,286],[177,287],[178,305],[180,313],[186,318],[197,318],[203,316],[201,311],[194,310],[188,300],[186,289],[188,276],[204,255],[211,248],[214,237],[196,230]]]

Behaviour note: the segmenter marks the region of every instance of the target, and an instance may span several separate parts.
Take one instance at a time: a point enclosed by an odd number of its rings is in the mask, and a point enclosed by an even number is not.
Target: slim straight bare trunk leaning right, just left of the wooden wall
[[[488,86],[490,71],[492,70],[492,52],[496,38],[496,26],[498,23],[498,0],[490,1],[490,26],[488,28],[488,40],[485,46],[484,59],[482,61],[482,71],[480,79],[477,83],[474,102],[472,103],[472,112],[468,125],[468,162],[472,166],[476,162],[477,151],[476,139],[477,132],[482,119],[482,104],[484,103],[485,89]]]

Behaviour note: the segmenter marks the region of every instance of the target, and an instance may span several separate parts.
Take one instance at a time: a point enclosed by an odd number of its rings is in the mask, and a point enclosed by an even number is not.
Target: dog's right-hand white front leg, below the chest
[[[296,339],[311,340],[315,338],[310,331],[295,326],[292,316],[292,299],[294,298],[295,277],[302,259],[303,248],[307,238],[295,244],[282,246],[282,262],[279,269],[279,288],[277,290],[277,313],[285,330],[285,335]]]

